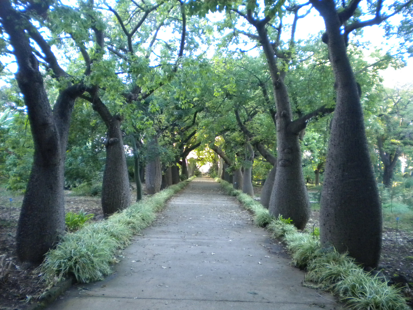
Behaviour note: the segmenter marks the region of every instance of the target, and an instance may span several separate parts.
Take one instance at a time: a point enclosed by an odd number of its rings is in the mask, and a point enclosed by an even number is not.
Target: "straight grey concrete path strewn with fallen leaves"
[[[304,272],[234,197],[197,178],[123,251],[114,274],[48,309],[342,309],[301,285]]]

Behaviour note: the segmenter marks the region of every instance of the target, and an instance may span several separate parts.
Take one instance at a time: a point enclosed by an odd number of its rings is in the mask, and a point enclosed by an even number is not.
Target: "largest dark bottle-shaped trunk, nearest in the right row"
[[[382,213],[359,90],[335,3],[312,3],[325,21],[323,41],[328,42],[337,92],[320,200],[320,241],[374,268],[380,258]]]

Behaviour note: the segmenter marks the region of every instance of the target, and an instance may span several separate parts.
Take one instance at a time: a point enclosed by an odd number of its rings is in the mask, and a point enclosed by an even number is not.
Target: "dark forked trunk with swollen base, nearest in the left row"
[[[19,65],[16,80],[27,106],[35,148],[17,226],[16,251],[20,262],[38,265],[64,233],[67,137],[74,101],[84,89],[75,85],[61,91],[52,110],[38,60],[24,31],[29,24],[26,17],[14,11],[8,1],[2,1],[0,18]]]

